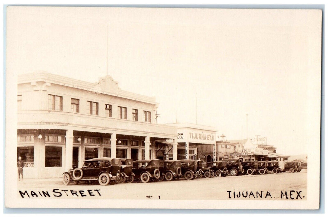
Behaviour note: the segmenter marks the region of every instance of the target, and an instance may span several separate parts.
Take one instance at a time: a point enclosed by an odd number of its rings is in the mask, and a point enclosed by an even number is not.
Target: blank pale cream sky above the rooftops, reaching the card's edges
[[[321,11],[15,7],[7,16],[8,75],[108,74],[154,96],[159,124],[259,135],[286,155],[318,143]]]

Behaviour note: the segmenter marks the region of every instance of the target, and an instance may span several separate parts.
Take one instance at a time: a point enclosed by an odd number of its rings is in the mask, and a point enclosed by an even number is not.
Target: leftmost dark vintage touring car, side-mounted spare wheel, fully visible
[[[63,173],[64,185],[69,185],[70,181],[78,184],[80,181],[97,181],[100,185],[106,186],[116,183],[120,176],[120,158],[100,157],[84,161],[82,168],[70,169]]]

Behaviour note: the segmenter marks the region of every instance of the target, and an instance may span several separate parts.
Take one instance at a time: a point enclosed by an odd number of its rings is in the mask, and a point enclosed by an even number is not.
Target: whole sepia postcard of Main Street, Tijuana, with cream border
[[[5,16],[5,207],[319,208],[321,10]]]

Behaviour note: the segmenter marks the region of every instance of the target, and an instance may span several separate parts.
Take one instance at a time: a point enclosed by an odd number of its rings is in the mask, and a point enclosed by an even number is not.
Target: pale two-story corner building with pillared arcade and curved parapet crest
[[[97,83],[46,72],[18,77],[17,157],[25,178],[60,177],[95,157],[156,157],[156,140],[172,140],[177,128],[155,122],[154,97],[123,91],[111,76]]]

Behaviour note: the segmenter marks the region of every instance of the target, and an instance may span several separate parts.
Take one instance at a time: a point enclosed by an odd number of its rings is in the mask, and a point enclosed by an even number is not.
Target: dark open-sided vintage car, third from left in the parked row
[[[135,175],[134,179],[140,179],[141,182],[147,183],[151,178],[157,181],[160,177],[159,167],[162,160],[138,160],[133,161],[132,172]]]

